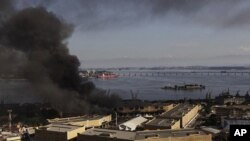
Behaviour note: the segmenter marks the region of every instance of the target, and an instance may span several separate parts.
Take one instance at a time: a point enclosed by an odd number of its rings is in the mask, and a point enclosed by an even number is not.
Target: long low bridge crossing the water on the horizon
[[[250,71],[118,71],[115,72],[120,77],[163,77],[163,76],[186,76],[186,75],[206,75],[206,76],[250,76]]]

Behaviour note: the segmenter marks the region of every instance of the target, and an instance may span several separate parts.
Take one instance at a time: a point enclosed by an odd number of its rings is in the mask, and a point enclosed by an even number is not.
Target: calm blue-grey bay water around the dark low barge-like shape
[[[155,70],[154,70],[155,71]],[[186,71],[186,70],[184,70]],[[204,70],[205,71],[205,70]],[[218,70],[217,70],[218,71]],[[126,72],[126,71],[123,71]],[[133,72],[133,71],[130,71]],[[138,71],[137,71],[138,72]],[[147,72],[150,72],[148,70]],[[161,99],[183,99],[205,98],[208,91],[212,96],[220,94],[222,91],[230,89],[235,94],[238,90],[241,95],[245,95],[250,90],[250,74],[245,75],[227,75],[227,74],[185,74],[185,75],[166,75],[166,76],[136,76],[136,77],[119,77],[116,79],[102,80],[91,79],[99,88],[110,90],[119,94],[122,98],[131,98],[131,90],[138,93],[138,98],[144,100],[161,100]],[[162,90],[161,87],[169,84],[197,83],[206,86],[205,90],[195,91],[173,91]]]

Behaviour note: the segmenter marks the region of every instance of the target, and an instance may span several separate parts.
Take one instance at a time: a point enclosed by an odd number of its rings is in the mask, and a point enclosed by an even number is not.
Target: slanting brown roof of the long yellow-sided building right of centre
[[[195,106],[196,105],[182,103],[175,106],[172,110],[163,113],[161,117],[181,118],[183,115],[187,114],[190,110],[192,110]]]

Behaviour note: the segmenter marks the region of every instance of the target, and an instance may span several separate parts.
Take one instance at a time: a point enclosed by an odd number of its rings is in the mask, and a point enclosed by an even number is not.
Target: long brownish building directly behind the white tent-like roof
[[[168,103],[151,103],[141,100],[127,100],[123,101],[117,108],[115,108],[115,111],[119,115],[155,115],[167,112],[173,107],[173,104]]]

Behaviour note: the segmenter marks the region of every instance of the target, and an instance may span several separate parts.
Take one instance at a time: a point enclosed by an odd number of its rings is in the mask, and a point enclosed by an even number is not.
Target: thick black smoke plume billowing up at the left
[[[38,7],[13,13],[0,31],[2,76],[27,78],[35,92],[60,111],[88,112],[87,102],[77,98],[80,63],[66,46],[72,26]]]

